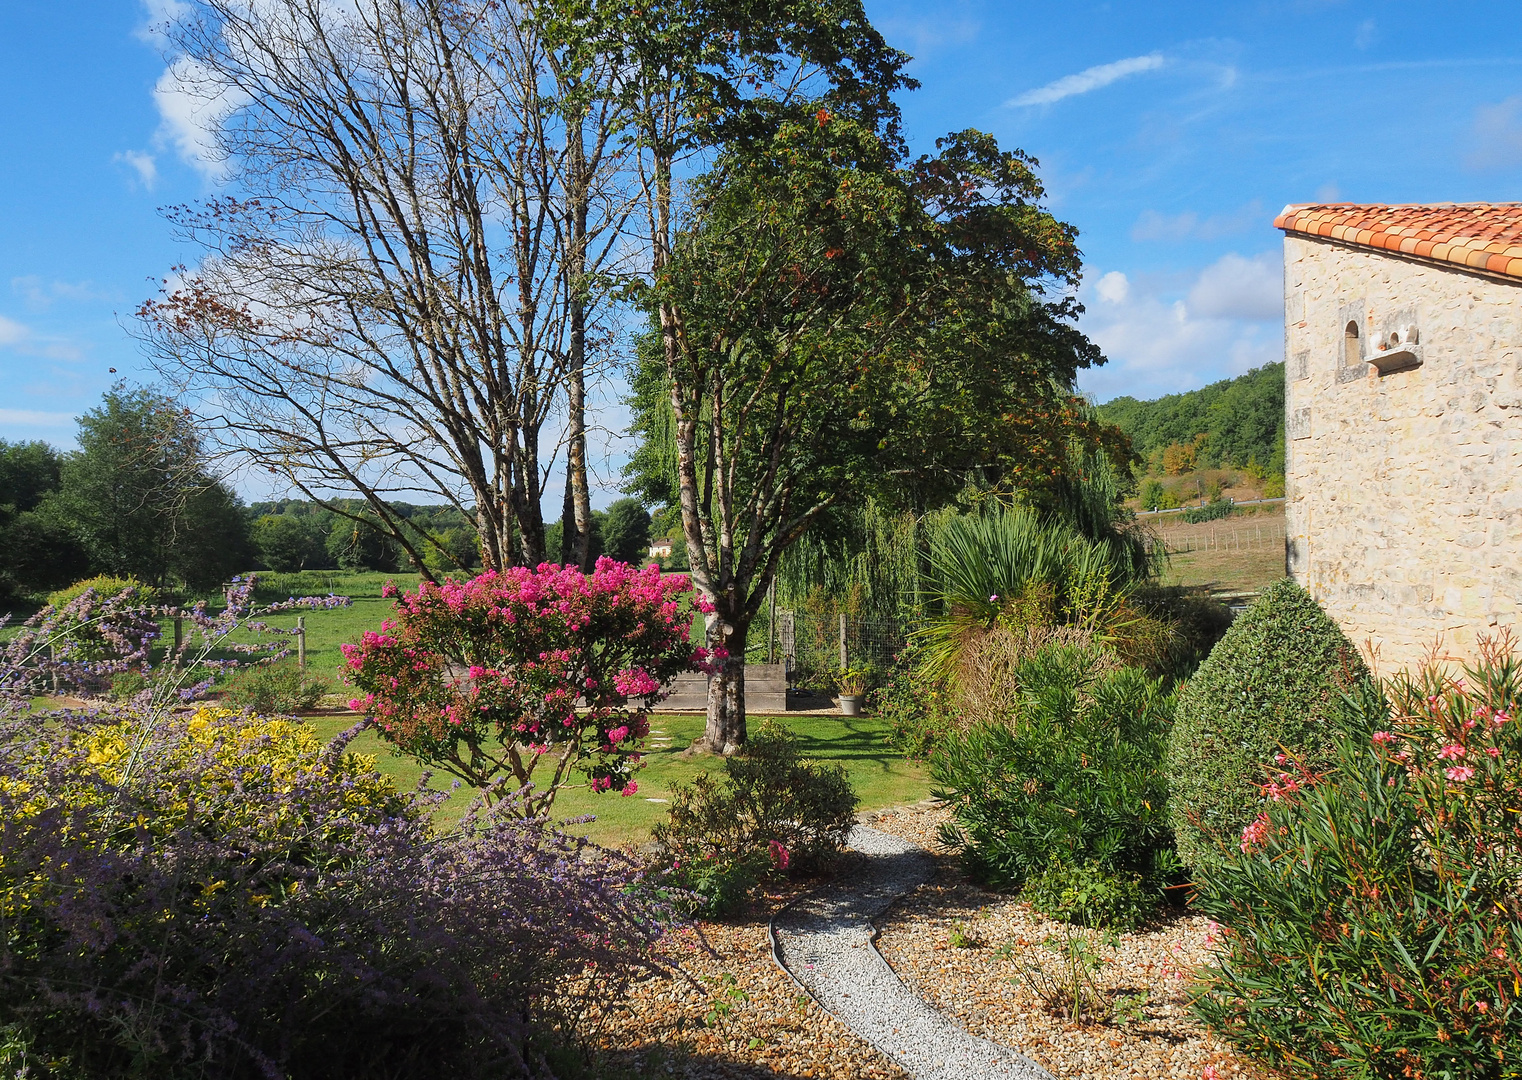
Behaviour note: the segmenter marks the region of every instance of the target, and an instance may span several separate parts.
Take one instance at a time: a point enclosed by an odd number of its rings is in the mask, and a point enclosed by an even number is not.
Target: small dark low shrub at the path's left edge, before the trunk
[[[857,802],[845,768],[804,758],[798,736],[767,719],[724,759],[723,774],[673,786],[667,820],[654,827],[665,882],[688,890],[696,910],[732,910],[767,873],[828,866]]]

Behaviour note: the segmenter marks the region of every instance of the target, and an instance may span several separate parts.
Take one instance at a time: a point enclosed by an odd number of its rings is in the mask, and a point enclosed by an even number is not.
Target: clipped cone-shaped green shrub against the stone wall
[[[1169,817],[1186,866],[1212,866],[1262,803],[1283,751],[1332,762],[1342,695],[1368,668],[1304,589],[1275,581],[1227,631],[1180,694],[1167,741]]]

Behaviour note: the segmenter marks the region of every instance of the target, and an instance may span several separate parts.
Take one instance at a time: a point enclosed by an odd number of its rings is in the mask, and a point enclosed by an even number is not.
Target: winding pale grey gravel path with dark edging
[[[916,1080],[1052,1080],[1027,1057],[968,1034],[906,987],[872,945],[875,916],[935,876],[928,852],[863,824],[855,864],[772,920],[778,963],[829,1013]]]

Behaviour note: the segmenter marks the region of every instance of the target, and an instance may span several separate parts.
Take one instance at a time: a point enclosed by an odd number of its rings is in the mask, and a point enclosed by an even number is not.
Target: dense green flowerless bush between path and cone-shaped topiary
[[[1140,875],[1155,896],[1177,875],[1161,762],[1172,695],[1094,646],[1047,646],[1017,675],[1003,719],[953,735],[930,761],[954,814],[942,840],[995,888],[1094,867]]]

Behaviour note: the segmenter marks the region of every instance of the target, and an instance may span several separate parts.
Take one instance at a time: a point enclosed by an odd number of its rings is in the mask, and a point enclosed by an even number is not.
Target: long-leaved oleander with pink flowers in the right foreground
[[[1274,765],[1196,876],[1199,1016],[1289,1077],[1522,1075],[1522,665],[1489,642],[1359,686],[1330,761]]]

